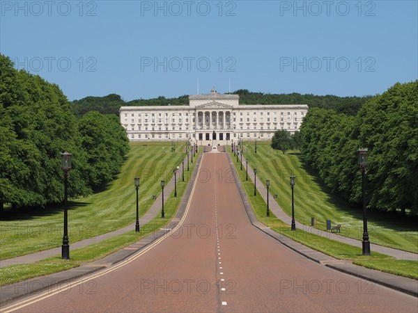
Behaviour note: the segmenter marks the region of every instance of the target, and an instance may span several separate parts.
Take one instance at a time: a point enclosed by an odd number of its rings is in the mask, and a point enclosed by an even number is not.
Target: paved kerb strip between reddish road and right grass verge
[[[290,248],[291,250],[299,253],[303,257],[307,257],[307,259],[311,259],[314,262],[323,264],[324,266],[332,268],[336,271],[340,271],[341,273],[346,273],[348,275],[353,275],[357,278],[362,278],[364,280],[368,280],[376,284],[381,284],[382,286],[394,289],[396,291],[401,291],[404,294],[409,294],[418,298],[417,280],[376,271],[355,264],[348,264],[347,262],[344,262],[344,260],[330,257],[329,255],[325,255],[323,252],[319,252],[317,250],[302,245],[302,243],[293,241],[292,239],[284,236],[283,234],[280,234],[279,232],[275,232],[274,230],[270,229],[270,227],[267,227],[263,223],[259,222],[256,218],[256,214],[254,214],[251,204],[249,204],[247,193],[245,193],[244,187],[242,186],[242,182],[238,177],[238,173],[235,170],[235,166],[233,161],[231,160],[231,156],[229,154],[227,155],[229,159],[229,164],[231,166],[231,170],[235,177],[235,183],[237,184],[238,191],[241,196],[242,204],[244,204],[244,208],[251,225],[256,227],[261,232],[264,232],[265,234],[268,234],[272,238],[276,239],[287,248]]]

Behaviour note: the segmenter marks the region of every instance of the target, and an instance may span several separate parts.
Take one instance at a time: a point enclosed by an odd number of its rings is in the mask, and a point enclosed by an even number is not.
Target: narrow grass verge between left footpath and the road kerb
[[[196,154],[196,158],[197,156],[198,154]],[[196,162],[189,163],[190,173],[192,173],[195,165]],[[50,273],[65,271],[69,268],[77,267],[84,262],[91,262],[95,259],[100,259],[130,245],[131,243],[137,242],[142,237],[155,232],[155,230],[158,230],[161,227],[164,227],[164,225],[167,225],[169,220],[171,220],[171,218],[173,218],[176,214],[181,199],[187,189],[187,183],[189,182],[190,176],[191,175],[185,175],[185,182],[180,181],[177,183],[177,198],[173,197],[174,191],[172,191],[169,196],[166,196],[167,198],[164,204],[165,218],[161,218],[160,213],[157,214],[157,216],[155,216],[155,218],[148,224],[141,225],[140,233],[132,230],[131,232],[100,241],[100,243],[94,243],[84,248],[71,250],[71,259],[69,261],[61,259],[60,255],[56,255],[56,257],[43,259],[36,264],[18,264],[0,268],[0,286],[13,284],[15,282],[20,282],[22,280]],[[160,180],[158,182],[160,182]],[[130,223],[132,223],[132,220]]]

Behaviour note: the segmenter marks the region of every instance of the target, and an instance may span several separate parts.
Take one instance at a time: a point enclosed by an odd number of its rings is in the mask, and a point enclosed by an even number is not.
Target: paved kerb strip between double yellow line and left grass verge
[[[4,307],[4,305],[7,305],[29,295],[40,294],[46,290],[49,290],[51,292],[52,289],[54,289],[54,291],[59,291],[63,289],[63,292],[66,293],[68,292],[68,287],[71,287],[70,282],[72,282],[73,280],[118,264],[130,257],[131,255],[140,252],[157,239],[160,239],[162,236],[167,236],[169,230],[171,230],[173,227],[176,227],[176,225],[180,223],[180,220],[183,217],[183,214],[185,213],[185,209],[187,207],[187,203],[189,202],[194,183],[196,182],[196,177],[199,174],[199,166],[202,157],[203,153],[199,154],[199,158],[196,160],[196,166],[194,167],[194,170],[192,172],[192,177],[190,177],[189,184],[187,185],[185,194],[183,195],[176,215],[171,219],[169,224],[164,229],[154,230],[154,232],[148,234],[148,236],[142,237],[139,241],[132,243],[129,246],[126,246],[125,248],[122,248],[121,250],[112,253],[111,255],[107,255],[102,259],[98,259],[93,262],[88,262],[86,264],[83,264],[82,266],[71,268],[67,271],[61,271],[59,273],[53,273],[37,278],[31,278],[29,280],[23,280],[22,282],[8,284],[4,287],[1,287],[0,307]]]

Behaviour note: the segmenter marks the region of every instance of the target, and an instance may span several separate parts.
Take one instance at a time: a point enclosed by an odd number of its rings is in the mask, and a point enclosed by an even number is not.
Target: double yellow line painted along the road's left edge
[[[202,156],[202,160],[201,163],[199,164],[199,170],[198,170],[198,175],[201,169],[201,164],[203,163],[203,156]],[[37,303],[38,301],[44,300],[46,298],[49,298],[50,296],[54,296],[56,294],[59,294],[61,292],[65,292],[68,291],[68,289],[71,289],[73,287],[77,287],[79,284],[83,284],[85,282],[88,282],[88,280],[94,280],[95,278],[99,278],[102,275],[106,275],[107,273],[110,273],[112,271],[115,271],[118,268],[121,268],[122,266],[125,266],[127,264],[130,264],[130,262],[134,261],[135,259],[141,257],[141,255],[144,255],[144,253],[148,252],[149,250],[151,250],[152,248],[154,248],[155,246],[157,246],[158,243],[160,243],[161,241],[163,241],[164,239],[166,239],[168,236],[168,234],[170,234],[171,232],[176,232],[176,230],[178,230],[178,228],[183,225],[183,222],[185,220],[185,218],[187,217],[187,213],[189,211],[189,207],[190,207],[190,203],[192,202],[192,198],[193,198],[193,194],[194,194],[194,189],[196,188],[196,183],[198,182],[199,179],[195,179],[194,180],[194,184],[193,184],[193,188],[192,188],[192,193],[190,193],[190,197],[189,197],[189,201],[187,202],[187,206],[185,209],[185,213],[183,214],[182,218],[180,219],[179,223],[176,225],[176,227],[174,227],[173,229],[171,229],[169,232],[167,232],[166,234],[164,234],[163,236],[161,236],[159,239],[155,240],[153,243],[151,243],[149,246],[146,246],[146,248],[138,251],[137,253],[135,253],[134,255],[132,255],[131,257],[123,260],[122,262],[115,264],[114,266],[111,266],[109,268],[105,268],[104,270],[100,271],[99,273],[95,273],[92,275],[89,275],[87,277],[83,277],[83,278],[79,278],[75,281],[72,282],[68,282],[67,286],[64,288],[59,288],[59,290],[57,291],[44,291],[42,292],[42,294],[38,294],[36,296],[33,296],[31,298],[28,298],[26,300],[22,300],[18,303],[15,303],[13,305],[9,305],[8,307],[3,307],[3,309],[1,310],[1,312],[3,313],[8,313],[8,312],[13,312],[15,310],[19,310],[22,307],[26,307],[28,305],[31,305],[33,303]]]

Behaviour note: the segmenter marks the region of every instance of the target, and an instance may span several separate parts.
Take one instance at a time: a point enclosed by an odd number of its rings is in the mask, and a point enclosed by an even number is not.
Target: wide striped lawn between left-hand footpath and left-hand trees
[[[107,188],[88,198],[70,201],[68,236],[72,242],[97,236],[134,223],[139,175],[139,214],[143,216],[161,192],[160,181],[173,176],[172,169],[185,157],[185,143],[171,152],[171,143],[132,143],[121,174]],[[181,166],[180,166],[181,168]],[[185,179],[190,172],[185,172]],[[188,177],[187,177],[188,179]],[[7,220],[6,220],[7,218]],[[61,246],[63,207],[51,207],[0,220],[0,259]]]

